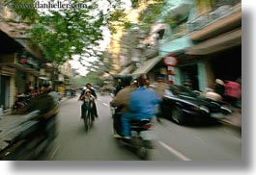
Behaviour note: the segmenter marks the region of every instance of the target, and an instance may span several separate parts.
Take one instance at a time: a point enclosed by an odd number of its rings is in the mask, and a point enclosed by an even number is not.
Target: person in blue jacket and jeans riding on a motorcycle
[[[130,121],[143,118],[153,118],[156,112],[156,104],[160,102],[156,92],[149,89],[149,77],[141,74],[138,79],[138,88],[129,95],[129,111],[123,113],[121,117],[122,132],[125,141],[130,139]]]

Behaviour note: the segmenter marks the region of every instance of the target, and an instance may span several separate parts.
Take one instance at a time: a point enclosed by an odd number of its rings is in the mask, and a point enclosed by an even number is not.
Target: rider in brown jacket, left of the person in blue
[[[130,85],[131,77],[126,77],[122,80],[122,89],[118,91],[116,96],[110,102],[111,107],[117,107],[115,113],[113,114],[113,123],[114,123],[114,137],[122,136],[121,129],[121,115],[125,112],[128,112],[129,106],[129,94],[133,91],[137,85],[136,82],[133,82]]]

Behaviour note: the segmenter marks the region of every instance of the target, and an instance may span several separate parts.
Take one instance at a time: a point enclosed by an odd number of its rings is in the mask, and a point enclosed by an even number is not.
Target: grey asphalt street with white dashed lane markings
[[[86,133],[80,118],[78,96],[62,102],[59,112],[58,137],[41,161],[139,161],[127,147],[112,137],[111,97],[96,101],[100,118]],[[241,134],[225,125],[180,126],[169,120],[155,122],[156,148],[152,161],[217,161],[242,160]]]

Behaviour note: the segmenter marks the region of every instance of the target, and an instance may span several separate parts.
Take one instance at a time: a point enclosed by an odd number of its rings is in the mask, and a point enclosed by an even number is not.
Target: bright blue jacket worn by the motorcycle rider
[[[156,113],[156,104],[160,102],[155,91],[147,87],[138,87],[130,93],[129,110],[138,118],[151,118]]]

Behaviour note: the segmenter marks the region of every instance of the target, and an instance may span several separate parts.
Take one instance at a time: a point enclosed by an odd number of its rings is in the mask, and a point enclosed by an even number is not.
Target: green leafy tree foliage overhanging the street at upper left
[[[82,8],[39,11],[36,7],[25,6],[33,4],[34,0],[5,0],[8,7],[31,23],[33,27],[28,31],[31,40],[43,50],[45,58],[54,63],[64,63],[74,55],[81,58],[101,55],[98,48],[103,38],[101,27],[107,25],[108,20],[115,20],[109,12],[121,3],[107,2],[106,12],[97,0],[69,1],[70,5],[86,5]]]

